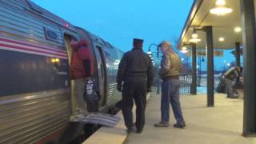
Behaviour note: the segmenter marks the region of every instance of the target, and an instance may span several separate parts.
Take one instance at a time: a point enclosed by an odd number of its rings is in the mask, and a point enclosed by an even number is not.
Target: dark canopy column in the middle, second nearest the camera
[[[213,27],[205,26],[207,54],[207,106],[214,106],[214,37]]]

